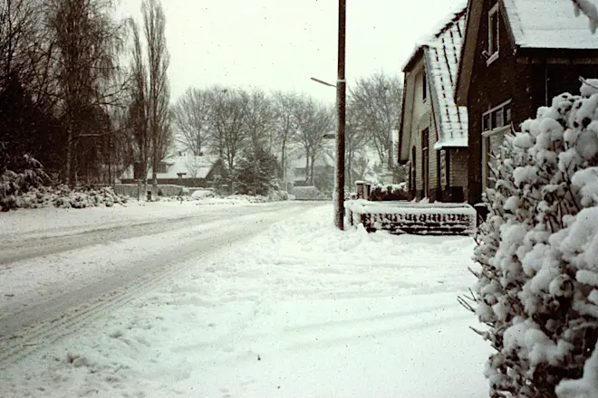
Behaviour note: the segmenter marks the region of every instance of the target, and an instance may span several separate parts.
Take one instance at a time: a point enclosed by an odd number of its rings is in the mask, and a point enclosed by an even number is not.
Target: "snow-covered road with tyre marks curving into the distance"
[[[322,203],[231,206],[220,213],[0,244],[0,368],[155,289],[189,263],[234,250],[236,243],[317,205]]]

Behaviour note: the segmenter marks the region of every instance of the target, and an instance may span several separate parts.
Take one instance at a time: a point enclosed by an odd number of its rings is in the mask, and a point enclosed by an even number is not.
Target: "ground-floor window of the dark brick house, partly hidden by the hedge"
[[[484,188],[494,186],[494,170],[499,160],[504,160],[501,149],[505,135],[510,131],[511,100],[488,110],[482,116],[482,184]]]

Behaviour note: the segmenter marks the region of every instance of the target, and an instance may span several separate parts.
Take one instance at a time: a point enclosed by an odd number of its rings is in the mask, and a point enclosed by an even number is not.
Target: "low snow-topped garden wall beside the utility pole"
[[[476,210],[469,204],[346,201],[351,225],[362,223],[368,232],[429,235],[469,235],[476,231]]]

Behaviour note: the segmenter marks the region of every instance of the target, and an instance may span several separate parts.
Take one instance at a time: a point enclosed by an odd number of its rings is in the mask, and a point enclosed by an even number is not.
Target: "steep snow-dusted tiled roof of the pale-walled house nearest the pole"
[[[452,20],[424,45],[426,70],[439,131],[435,149],[468,147],[468,109],[454,100],[458,64],[465,32],[466,10],[452,14]]]

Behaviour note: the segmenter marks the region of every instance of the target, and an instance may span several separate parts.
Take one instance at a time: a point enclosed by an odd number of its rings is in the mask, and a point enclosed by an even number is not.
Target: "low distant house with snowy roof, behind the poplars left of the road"
[[[179,152],[160,162],[157,170],[159,185],[183,185],[188,187],[211,187],[227,176],[227,168],[218,156],[194,156]],[[152,169],[148,170],[148,182],[152,181]],[[181,175],[179,179],[178,175]],[[140,165],[130,166],[121,176],[122,184],[133,184],[142,178]]]

